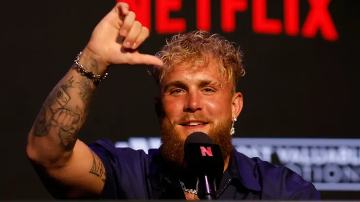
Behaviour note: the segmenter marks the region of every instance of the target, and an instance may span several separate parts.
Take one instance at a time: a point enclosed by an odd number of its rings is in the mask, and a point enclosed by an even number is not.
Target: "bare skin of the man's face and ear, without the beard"
[[[178,123],[186,114],[190,114],[191,118],[199,114],[214,120],[195,127],[178,124],[175,130],[183,141],[194,132],[208,134],[217,123],[227,118],[237,118],[243,105],[242,94],[235,93],[233,82],[225,83],[225,77],[218,74],[218,69],[212,62],[206,67],[183,65],[173,68],[164,76],[161,98],[157,98],[157,101],[162,103],[162,118],[165,121]],[[228,167],[229,158],[225,160],[224,170]],[[184,194],[188,200],[198,199],[194,194]]]

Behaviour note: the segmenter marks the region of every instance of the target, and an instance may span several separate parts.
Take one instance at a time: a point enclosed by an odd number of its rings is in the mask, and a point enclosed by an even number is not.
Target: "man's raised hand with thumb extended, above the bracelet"
[[[135,20],[127,3],[119,2],[95,27],[86,47],[106,64],[162,66],[159,58],[141,54],[137,48],[149,36],[149,30]]]

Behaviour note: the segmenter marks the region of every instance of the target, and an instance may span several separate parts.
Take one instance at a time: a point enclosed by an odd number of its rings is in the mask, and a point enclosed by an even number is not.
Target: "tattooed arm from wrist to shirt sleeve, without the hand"
[[[80,58],[94,74],[106,69],[99,61],[87,49]],[[27,155],[47,188],[56,185],[52,192],[59,198],[98,195],[104,186],[103,163],[77,139],[95,89],[72,67],[46,98],[28,136]]]

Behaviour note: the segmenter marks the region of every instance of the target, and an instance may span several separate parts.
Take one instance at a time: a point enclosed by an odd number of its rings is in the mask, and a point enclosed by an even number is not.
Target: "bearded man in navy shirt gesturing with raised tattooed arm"
[[[314,185],[288,168],[234,150],[231,135],[242,109],[235,84],[244,69],[231,43],[205,32],[179,34],[151,56],[137,51],[148,35],[128,5],[118,3],[44,102],[28,136],[27,155],[55,198],[198,199],[196,176],[183,164],[183,145],[191,133],[203,132],[220,145],[225,162],[218,200],[320,199]],[[115,148],[108,140],[87,146],[77,139],[111,64],[154,66],[159,150],[145,154]]]

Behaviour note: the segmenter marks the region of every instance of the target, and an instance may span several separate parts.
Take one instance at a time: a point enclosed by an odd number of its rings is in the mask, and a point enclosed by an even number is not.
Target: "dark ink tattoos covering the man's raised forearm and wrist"
[[[87,70],[98,71],[96,60],[84,55],[81,62]],[[57,135],[57,144],[64,151],[72,151],[95,90],[86,76],[72,75],[64,77],[49,94],[34,124],[35,136]]]

